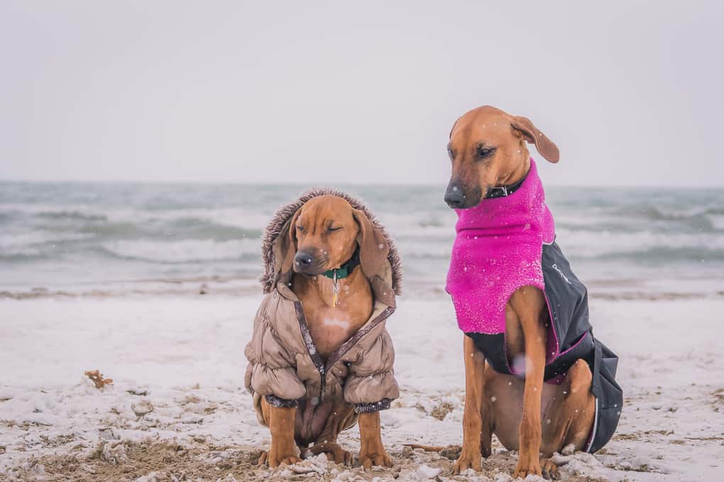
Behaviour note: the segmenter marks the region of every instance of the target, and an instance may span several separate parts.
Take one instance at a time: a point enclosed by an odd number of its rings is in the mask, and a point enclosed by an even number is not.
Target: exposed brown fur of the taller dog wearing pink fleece
[[[473,207],[490,187],[515,184],[526,176],[530,169],[527,143],[557,163],[555,144],[525,117],[490,106],[460,117],[448,145],[452,162],[448,190],[452,186],[463,190],[462,205],[456,207]],[[519,451],[513,476],[521,478],[556,476],[557,468],[550,460],[542,460],[541,452],[550,457],[568,444],[584,448],[594,421],[591,371],[585,361],[578,360],[563,384],[543,383],[547,317],[544,294],[531,286],[515,291],[505,307],[506,350],[511,360],[525,356],[524,380],[496,373],[473,341],[464,337],[463,449],[454,473],[481,470],[481,455],[491,454],[492,434],[507,449]]]

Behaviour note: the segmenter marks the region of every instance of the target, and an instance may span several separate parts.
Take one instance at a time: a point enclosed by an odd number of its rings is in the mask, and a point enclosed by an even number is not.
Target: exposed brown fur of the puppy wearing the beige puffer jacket
[[[366,215],[355,210],[345,199],[334,195],[314,197],[295,213],[290,223],[287,244],[283,254],[283,271],[292,269],[298,274],[292,278],[292,291],[302,302],[304,314],[319,354],[327,361],[330,354],[349,340],[371,316],[373,296],[365,272],[374,272],[376,264],[384,260],[387,251],[379,254],[379,240]],[[374,244],[374,246],[372,246]],[[361,266],[348,277],[337,280],[339,298],[335,304],[332,280],[321,274],[337,269],[353,256],[359,246]],[[308,267],[295,262],[295,254],[304,251],[313,257]],[[330,323],[329,320],[335,320]],[[271,431],[271,448],[260,462],[270,467],[294,463],[300,459],[295,446],[295,414],[299,408],[276,408],[262,400],[262,416]],[[313,454],[325,453],[329,460],[350,463],[351,456],[337,444],[337,435],[345,421],[353,416],[352,405],[340,403],[330,417],[329,433],[319,437],[311,448]],[[392,466],[382,444],[379,413],[361,413],[358,417],[361,447],[358,461],[364,468],[372,465]]]

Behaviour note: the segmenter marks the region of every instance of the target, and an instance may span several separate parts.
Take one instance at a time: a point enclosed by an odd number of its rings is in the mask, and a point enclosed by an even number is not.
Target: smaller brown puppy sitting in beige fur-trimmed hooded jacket
[[[332,210],[321,214],[316,206],[320,204]],[[344,236],[334,231],[342,230],[337,223],[343,224],[347,209],[356,236],[351,241],[340,241]],[[305,259],[310,250],[302,251],[298,238],[316,229],[315,218],[326,223],[320,225],[319,231],[337,240],[330,243],[351,242],[353,246],[315,248],[319,263],[313,263],[314,253]],[[307,223],[307,232],[303,223]],[[332,266],[327,250],[336,249],[349,249],[353,254],[344,264]],[[260,462],[269,462],[270,466],[291,463],[308,450],[326,453],[335,462],[349,463],[351,455],[337,444],[337,436],[359,418],[360,463],[366,468],[390,465],[379,436],[379,410],[390,408],[392,400],[399,397],[393,372],[395,352],[385,327],[395,311],[402,277],[400,257],[392,240],[361,202],[341,191],[316,189],[277,211],[266,228],[262,254],[264,298],[254,319],[252,340],[245,348],[249,361],[245,386],[253,394],[258,421],[269,426],[272,436],[271,449]],[[319,330],[327,327],[308,319],[312,306],[305,306],[300,299],[303,296],[295,294],[295,289],[300,283],[315,287],[319,284],[327,293],[330,287],[332,298],[327,299],[331,301],[322,308],[343,312],[344,296],[349,293],[344,282],[353,277],[364,283],[364,292],[371,298],[366,301],[371,313],[360,319],[358,329],[338,338],[330,348],[319,336]],[[329,323],[325,320],[324,324]],[[275,431],[278,440],[284,439],[276,444]]]

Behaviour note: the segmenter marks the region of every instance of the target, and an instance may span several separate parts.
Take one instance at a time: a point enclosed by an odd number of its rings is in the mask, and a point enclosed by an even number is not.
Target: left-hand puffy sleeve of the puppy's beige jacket
[[[246,345],[249,361],[244,377],[249,392],[266,397],[276,407],[293,407],[304,396],[306,388],[296,372],[296,361],[279,340],[262,304],[256,319],[251,342]]]

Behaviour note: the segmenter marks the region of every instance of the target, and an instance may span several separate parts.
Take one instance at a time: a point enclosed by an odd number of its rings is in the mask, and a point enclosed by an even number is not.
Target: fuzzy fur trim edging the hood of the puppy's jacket
[[[284,277],[285,275],[285,273],[281,272],[281,260],[275,259],[276,257],[274,256],[274,246],[275,244],[277,244],[277,240],[279,240],[279,235],[287,232],[291,219],[294,217],[295,213],[300,209],[300,207],[302,207],[306,202],[308,202],[310,199],[313,199],[314,197],[325,195],[341,197],[342,199],[345,199],[345,201],[349,202],[350,205],[356,210],[361,210],[362,212],[364,212],[370,223],[374,226],[375,230],[379,231],[379,233],[382,235],[384,241],[387,244],[387,247],[389,248],[389,252],[387,254],[387,261],[390,262],[389,268],[392,274],[392,286],[390,286],[389,288],[392,289],[392,292],[395,293],[395,295],[399,296],[402,292],[403,270],[402,261],[400,260],[400,254],[397,252],[395,242],[392,241],[392,238],[390,238],[390,235],[387,234],[387,231],[385,231],[382,223],[380,223],[379,220],[374,217],[374,215],[371,213],[369,208],[366,207],[366,205],[343,191],[329,188],[315,188],[306,191],[296,201],[290,202],[288,205],[279,208],[279,210],[274,213],[274,216],[272,216],[269,224],[266,225],[266,230],[264,231],[264,238],[262,239],[261,246],[261,254],[262,258],[264,259],[264,275],[262,275],[259,279],[262,286],[264,287],[264,293],[271,292],[271,290],[274,289],[274,286],[279,283],[279,281],[282,280],[282,277]],[[373,289],[376,288],[376,285],[379,285],[379,283],[375,283],[374,281],[375,280],[370,280]],[[383,280],[378,280],[378,282],[379,281]],[[389,282],[385,281],[385,284],[387,283]]]

